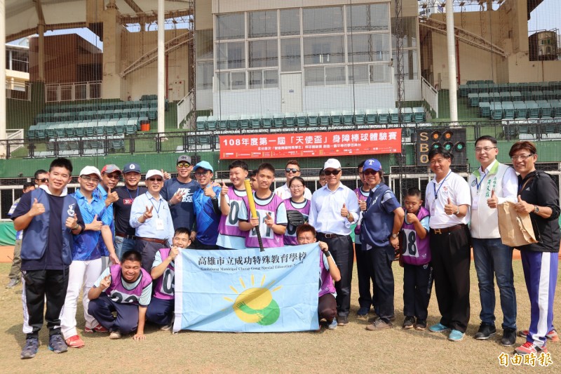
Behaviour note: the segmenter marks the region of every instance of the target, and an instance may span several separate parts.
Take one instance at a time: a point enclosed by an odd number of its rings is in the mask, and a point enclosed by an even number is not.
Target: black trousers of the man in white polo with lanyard
[[[470,235],[468,227],[436,234],[431,229],[436,300],[444,326],[466,332],[469,322]]]

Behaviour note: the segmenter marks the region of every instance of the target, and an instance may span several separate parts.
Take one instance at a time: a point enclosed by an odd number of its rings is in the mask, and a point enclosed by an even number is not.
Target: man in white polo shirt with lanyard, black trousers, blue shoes
[[[428,152],[435,178],[426,185],[425,207],[431,213],[431,255],[436,300],[442,318],[429,331],[447,332],[448,340],[464,339],[469,322],[471,196],[469,185],[452,173],[452,154],[444,147]]]

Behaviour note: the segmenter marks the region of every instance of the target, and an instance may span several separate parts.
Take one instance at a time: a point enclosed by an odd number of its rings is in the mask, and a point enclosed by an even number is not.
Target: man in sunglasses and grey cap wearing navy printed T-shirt
[[[175,168],[177,177],[165,180],[160,194],[168,201],[173,225],[191,229],[195,222],[193,194],[199,189],[196,180],[191,178],[191,157],[186,154],[179,156]]]

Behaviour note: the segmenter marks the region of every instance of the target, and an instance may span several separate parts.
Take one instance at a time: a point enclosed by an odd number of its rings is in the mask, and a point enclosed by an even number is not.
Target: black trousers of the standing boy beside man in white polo
[[[433,267],[403,264],[403,315],[426,321],[433,289]]]

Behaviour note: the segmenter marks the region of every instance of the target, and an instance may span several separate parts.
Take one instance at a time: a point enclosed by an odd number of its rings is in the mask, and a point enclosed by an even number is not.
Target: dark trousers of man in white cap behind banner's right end
[[[339,272],[341,272],[341,280],[335,282],[337,314],[339,316],[349,316],[354,262],[353,239],[351,239],[350,235],[326,238],[321,232],[318,232],[317,237],[319,241],[327,243],[333,260],[337,267],[339,267]]]

